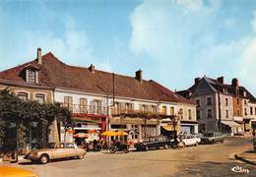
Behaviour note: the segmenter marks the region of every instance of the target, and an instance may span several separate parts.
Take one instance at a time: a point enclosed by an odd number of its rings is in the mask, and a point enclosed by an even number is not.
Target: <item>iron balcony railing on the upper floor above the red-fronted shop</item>
[[[77,114],[95,114],[95,115],[106,115],[107,107],[95,106],[95,105],[80,105],[80,104],[64,104],[62,106],[68,107],[72,113]]]

